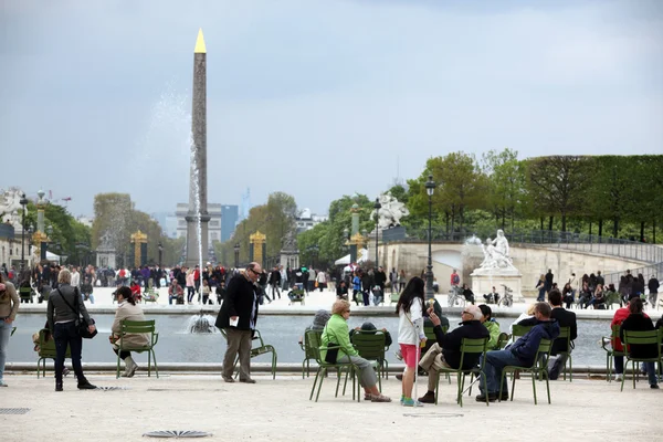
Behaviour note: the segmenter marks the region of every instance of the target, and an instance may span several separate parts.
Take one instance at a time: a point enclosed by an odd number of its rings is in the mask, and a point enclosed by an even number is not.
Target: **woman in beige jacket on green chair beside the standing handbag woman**
[[[122,322],[128,320],[145,320],[143,309],[136,305],[136,299],[131,294],[129,287],[123,286],[117,290],[117,312],[115,313],[115,320],[110,327],[110,344],[113,345],[113,351],[117,355],[119,351],[119,344],[122,339],[123,350],[119,354],[119,358],[125,361],[125,372],[122,375],[124,378],[130,378],[138,369],[138,365],[131,358],[131,352],[128,351],[131,348],[140,348],[149,344],[149,339],[145,334],[127,334],[120,338]]]

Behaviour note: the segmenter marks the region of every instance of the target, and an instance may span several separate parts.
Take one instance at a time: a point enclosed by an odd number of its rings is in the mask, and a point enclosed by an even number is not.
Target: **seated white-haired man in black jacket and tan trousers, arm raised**
[[[463,338],[481,339],[490,337],[488,330],[481,324],[483,314],[475,305],[469,305],[461,315],[461,327],[445,334],[440,326],[440,318],[434,313],[430,313],[435,333],[436,343],[423,355],[419,366],[428,371],[429,383],[427,393],[419,399],[423,403],[435,402],[435,387],[438,370],[443,367],[460,368],[461,365],[461,344]],[[463,369],[471,369],[478,361],[478,354],[465,355]]]

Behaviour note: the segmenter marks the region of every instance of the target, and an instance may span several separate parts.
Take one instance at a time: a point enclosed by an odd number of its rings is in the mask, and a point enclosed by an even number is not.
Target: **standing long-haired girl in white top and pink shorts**
[[[406,361],[401,396],[401,404],[404,407],[421,407],[421,402],[412,399],[412,386],[419,365],[420,345],[425,344],[425,334],[423,333],[424,287],[425,283],[422,278],[412,277],[396,305],[396,313],[399,317],[398,344]]]

